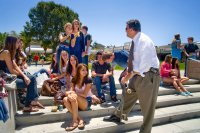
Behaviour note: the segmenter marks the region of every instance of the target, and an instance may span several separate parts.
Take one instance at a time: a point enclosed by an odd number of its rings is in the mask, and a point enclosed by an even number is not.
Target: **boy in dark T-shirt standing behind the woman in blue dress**
[[[84,44],[85,44],[85,56],[82,58],[84,64],[88,66],[88,56],[90,55],[90,44],[92,42],[92,36],[88,34],[88,27],[82,26],[83,35],[84,35]]]

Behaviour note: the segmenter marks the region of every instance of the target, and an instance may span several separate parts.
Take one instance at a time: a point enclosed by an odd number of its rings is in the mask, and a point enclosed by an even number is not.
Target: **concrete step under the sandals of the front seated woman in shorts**
[[[159,108],[155,111],[154,125],[171,123],[191,118],[200,117],[200,103],[177,105],[165,108]],[[129,114],[128,121],[121,123],[104,122],[103,117],[87,118],[84,130],[75,129],[73,132],[87,133],[121,133],[138,129],[142,124],[143,117],[140,111],[134,111]],[[45,123],[32,126],[20,126],[16,129],[16,133],[65,133],[65,127],[69,125],[71,120],[55,123]],[[164,132],[164,131],[163,131]]]

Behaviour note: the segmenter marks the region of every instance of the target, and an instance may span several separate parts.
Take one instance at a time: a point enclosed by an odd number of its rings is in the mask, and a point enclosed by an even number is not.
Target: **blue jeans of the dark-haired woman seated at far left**
[[[26,73],[26,76],[31,80],[30,84],[27,86],[24,78],[22,76],[17,76],[16,86],[17,89],[27,88],[25,107],[28,107],[31,104],[31,101],[37,100],[39,97],[36,78],[29,73]]]

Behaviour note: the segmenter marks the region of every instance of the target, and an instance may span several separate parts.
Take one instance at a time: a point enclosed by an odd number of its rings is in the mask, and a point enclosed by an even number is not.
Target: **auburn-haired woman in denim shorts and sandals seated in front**
[[[66,92],[67,97],[63,99],[65,107],[72,113],[72,124],[66,128],[66,131],[72,131],[75,128],[84,128],[85,122],[78,114],[79,110],[88,110],[92,101],[99,99],[92,94],[92,80],[88,78],[88,67],[85,64],[79,64],[77,73],[72,79],[71,91]]]

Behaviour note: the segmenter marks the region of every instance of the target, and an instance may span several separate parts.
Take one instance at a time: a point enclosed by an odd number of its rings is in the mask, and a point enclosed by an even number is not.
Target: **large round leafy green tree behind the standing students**
[[[29,18],[33,37],[44,42],[42,46],[52,47],[55,51],[59,43],[58,35],[63,31],[64,24],[78,19],[78,14],[68,7],[52,1],[42,1],[30,9]]]

